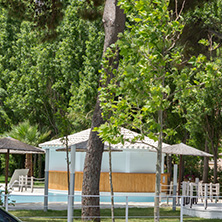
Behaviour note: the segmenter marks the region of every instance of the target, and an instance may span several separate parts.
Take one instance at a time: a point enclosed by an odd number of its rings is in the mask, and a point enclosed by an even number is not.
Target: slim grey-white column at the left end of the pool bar
[[[45,153],[45,189],[44,189],[44,211],[48,210],[48,194],[49,194],[49,148]]]

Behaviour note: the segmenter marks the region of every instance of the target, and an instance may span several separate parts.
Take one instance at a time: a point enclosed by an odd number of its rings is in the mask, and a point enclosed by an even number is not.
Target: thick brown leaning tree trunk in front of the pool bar
[[[105,29],[104,57],[106,49],[117,41],[118,34],[123,32],[125,28],[125,15],[123,10],[117,7],[117,0],[106,0],[103,23]],[[113,62],[113,58],[108,59],[112,69],[116,69],[118,67],[118,55],[115,57],[116,63]],[[99,181],[104,145],[93,129],[102,123],[104,121],[101,116],[99,98],[97,98],[83,171],[82,220],[100,221]],[[97,196],[91,197],[89,195]]]

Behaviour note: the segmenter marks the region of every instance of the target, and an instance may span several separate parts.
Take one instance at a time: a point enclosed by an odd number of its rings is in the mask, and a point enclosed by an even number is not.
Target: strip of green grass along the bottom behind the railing
[[[10,211],[11,214],[15,215],[16,217],[20,218],[22,221],[26,222],[35,222],[35,221],[42,221],[42,222],[66,222],[66,215],[67,211],[55,211],[55,210],[48,210],[48,212],[44,212],[43,210],[18,210],[18,211]],[[75,216],[81,216],[81,210],[74,211]],[[110,217],[111,212],[110,209],[102,209],[101,216],[102,217]],[[160,215],[165,218],[161,218],[161,222],[179,222],[180,221],[180,210],[177,209],[176,211],[172,211],[171,208],[161,208]],[[117,222],[124,222],[125,221],[125,209],[117,208],[115,209],[115,216],[117,217]],[[153,218],[139,218],[144,216],[153,216],[153,208],[129,208],[129,222],[151,222]],[[118,218],[123,217],[123,218]],[[74,221],[81,221],[81,219],[75,219]],[[111,219],[102,219],[101,221],[104,222],[111,222]],[[184,217],[186,222],[219,222],[221,219],[203,219],[203,218],[192,218],[192,217]]]

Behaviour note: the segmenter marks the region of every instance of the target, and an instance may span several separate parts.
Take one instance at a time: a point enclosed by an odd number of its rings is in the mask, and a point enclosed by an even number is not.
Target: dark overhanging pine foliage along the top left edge
[[[67,7],[76,4],[69,0],[0,0],[0,6],[7,9],[10,17],[19,21],[29,21],[34,24],[32,30],[41,32],[41,41],[55,40],[58,37],[57,27],[62,22]],[[78,15],[83,19],[95,21],[102,18],[103,0],[83,0]]]

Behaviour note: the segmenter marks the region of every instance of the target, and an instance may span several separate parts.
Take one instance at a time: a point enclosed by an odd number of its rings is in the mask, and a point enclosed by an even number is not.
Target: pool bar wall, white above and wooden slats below
[[[103,153],[100,191],[109,192],[109,156]],[[76,153],[75,190],[82,190],[85,152]],[[50,149],[49,189],[67,190],[66,153]],[[114,192],[154,192],[156,153],[148,150],[112,152]],[[163,171],[163,165],[162,165]],[[168,174],[162,174],[161,183],[167,184]]]

